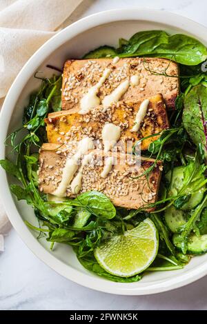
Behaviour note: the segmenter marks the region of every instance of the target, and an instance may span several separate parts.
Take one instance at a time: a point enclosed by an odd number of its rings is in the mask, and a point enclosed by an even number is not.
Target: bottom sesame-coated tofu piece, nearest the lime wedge
[[[62,145],[59,148],[58,144],[43,144],[39,155],[39,190],[41,192],[52,194],[57,189],[61,182],[66,159],[75,152],[67,145]],[[116,206],[130,209],[146,206],[148,211],[153,210],[152,206],[147,204],[155,203],[157,200],[161,178],[161,162],[157,162],[156,167],[150,172],[149,178],[146,179],[146,176],[141,176],[141,174],[154,163],[155,160],[153,159],[141,158],[140,165],[140,160],[136,160],[132,154],[115,152],[103,154],[101,150],[91,150],[90,152],[93,154],[93,159],[90,164],[83,166],[79,194],[90,190],[98,190],[106,194]],[[112,165],[112,170],[106,178],[101,178],[104,161],[109,156],[112,156],[116,163]],[[137,176],[141,177],[137,179]],[[68,185],[66,195],[71,198],[75,197],[71,192],[70,185]]]

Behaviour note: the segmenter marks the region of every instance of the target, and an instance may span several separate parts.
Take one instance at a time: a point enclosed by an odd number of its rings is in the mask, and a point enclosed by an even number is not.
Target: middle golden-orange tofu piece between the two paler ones
[[[74,139],[80,140],[83,136],[92,136],[94,139],[101,139],[101,131],[106,122],[120,125],[121,138],[119,145],[126,150],[126,141],[131,145],[139,139],[157,134],[168,128],[168,116],[161,94],[150,99],[148,112],[144,118],[139,132],[131,132],[135,123],[135,117],[139,111],[141,101],[137,103],[125,103],[120,101],[117,105],[104,110],[100,105],[86,115],[81,115],[77,109],[62,110],[48,114],[46,119],[47,134],[49,143],[64,143]],[[141,142],[141,150],[147,150],[148,145],[159,136],[152,136]],[[128,145],[130,144],[128,142]],[[128,146],[128,149],[129,146]]]

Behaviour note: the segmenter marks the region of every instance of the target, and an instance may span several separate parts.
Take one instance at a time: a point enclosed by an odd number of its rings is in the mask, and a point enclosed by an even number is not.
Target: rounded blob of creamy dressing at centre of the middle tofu
[[[121,128],[113,123],[106,123],[102,130],[104,153],[108,152],[119,141]]]

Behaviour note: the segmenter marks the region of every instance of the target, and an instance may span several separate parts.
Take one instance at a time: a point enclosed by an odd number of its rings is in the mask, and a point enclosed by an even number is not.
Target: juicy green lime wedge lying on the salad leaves
[[[134,276],[146,270],[158,250],[157,229],[150,219],[95,249],[95,258],[115,276]]]

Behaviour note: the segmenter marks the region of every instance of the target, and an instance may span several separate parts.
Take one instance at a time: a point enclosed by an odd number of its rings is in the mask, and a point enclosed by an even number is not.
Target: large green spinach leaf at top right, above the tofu
[[[184,34],[169,36],[162,30],[137,32],[117,51],[120,57],[150,55],[185,65],[197,65],[207,57],[206,46],[197,39]]]

